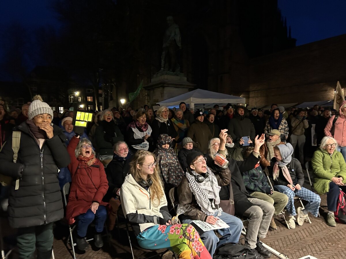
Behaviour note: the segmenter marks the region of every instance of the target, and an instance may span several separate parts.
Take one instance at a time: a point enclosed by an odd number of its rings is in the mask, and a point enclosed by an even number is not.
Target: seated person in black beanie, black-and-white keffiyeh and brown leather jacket
[[[190,152],[186,162],[189,165],[188,171],[177,189],[179,204],[186,210],[181,215],[182,222],[201,220],[215,224],[219,218],[229,226],[217,230],[221,238],[218,238],[213,230],[200,234],[210,255],[213,255],[216,247],[227,242],[237,243],[243,227],[239,218],[225,213],[219,207],[221,185],[229,184],[230,171],[228,167],[220,172],[213,171],[207,166],[206,158],[197,151]]]

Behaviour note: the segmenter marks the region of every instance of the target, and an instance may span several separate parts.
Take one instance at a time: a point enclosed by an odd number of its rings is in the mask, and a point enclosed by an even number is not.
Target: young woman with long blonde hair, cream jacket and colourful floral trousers
[[[151,152],[139,150],[130,162],[130,174],[121,186],[126,219],[140,247],[168,248],[179,258],[211,258],[198,232],[190,224],[171,224],[158,165]]]

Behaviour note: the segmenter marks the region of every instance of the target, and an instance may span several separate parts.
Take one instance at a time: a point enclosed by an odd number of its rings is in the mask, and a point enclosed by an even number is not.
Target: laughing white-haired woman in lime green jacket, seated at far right
[[[311,160],[316,175],[313,188],[319,194],[327,193],[327,224],[335,227],[334,211],[336,211],[339,188],[346,192],[346,163],[343,155],[337,152],[335,138],[322,138],[320,149],[313,153]]]

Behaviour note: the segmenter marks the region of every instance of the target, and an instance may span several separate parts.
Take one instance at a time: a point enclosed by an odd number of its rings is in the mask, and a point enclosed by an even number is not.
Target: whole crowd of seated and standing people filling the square
[[[318,194],[327,194],[327,224],[336,226],[339,190],[346,191],[346,102],[338,112],[276,104],[266,111],[232,104],[200,111],[184,102],[155,111],[113,107],[94,112],[83,134],[73,131],[73,120],[74,111],[58,114],[40,96],[21,111],[0,103],[1,208],[18,228],[20,258],[36,248],[38,258],[50,258],[53,223],[63,217],[76,224],[80,250],[89,247],[92,222],[102,247],[104,227],[112,231],[121,213],[139,246],[169,248],[179,258],[212,258],[217,247],[237,243],[241,219],[246,246],[255,258],[269,258],[261,240],[277,229],[273,216],[284,212],[290,228],[302,226],[309,213],[317,217]],[[303,187],[309,160],[317,193]],[[185,211],[178,223],[167,202],[172,188]],[[295,196],[306,201],[297,211]],[[218,219],[229,228],[193,225]]]

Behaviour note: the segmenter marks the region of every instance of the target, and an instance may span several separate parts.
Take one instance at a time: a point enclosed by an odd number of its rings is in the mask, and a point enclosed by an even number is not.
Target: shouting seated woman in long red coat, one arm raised
[[[89,224],[95,220],[95,246],[102,247],[101,232],[107,219],[106,205],[102,202],[108,190],[108,181],[103,164],[95,158],[91,142],[73,137],[67,151],[71,157],[68,168],[71,172],[69,202],[66,207],[66,218],[69,224],[77,221],[76,244],[78,249],[86,250],[88,243],[84,237]]]

